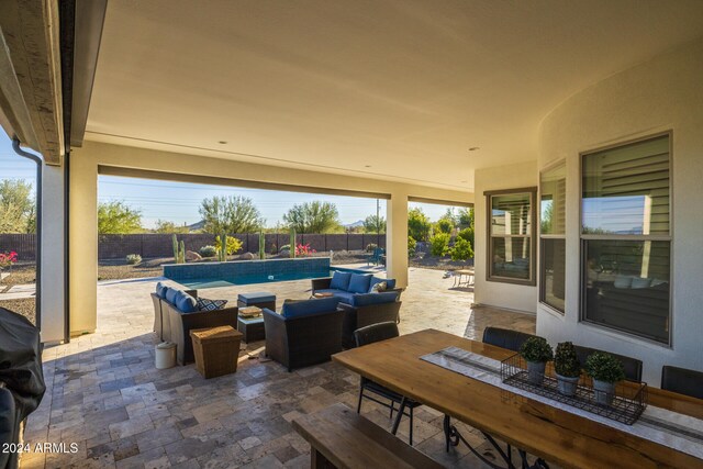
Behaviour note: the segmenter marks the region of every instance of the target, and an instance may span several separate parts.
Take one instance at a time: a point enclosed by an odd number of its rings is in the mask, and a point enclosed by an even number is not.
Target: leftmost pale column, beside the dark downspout
[[[42,169],[42,342],[64,339],[64,168]]]

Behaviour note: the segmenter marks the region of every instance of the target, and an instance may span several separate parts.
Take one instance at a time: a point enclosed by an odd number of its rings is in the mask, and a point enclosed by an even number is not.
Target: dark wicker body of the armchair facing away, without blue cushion
[[[288,319],[268,309],[263,311],[266,355],[288,371],[328,361],[342,351],[342,310]]]

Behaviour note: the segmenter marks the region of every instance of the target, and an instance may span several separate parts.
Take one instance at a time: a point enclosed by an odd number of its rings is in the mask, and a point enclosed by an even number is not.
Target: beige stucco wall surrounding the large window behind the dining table
[[[658,386],[662,365],[703,370],[703,41],[617,74],[555,109],[540,130],[539,167],[567,163],[566,315],[537,310],[537,333],[644,360]],[[579,322],[579,153],[673,132],[672,346]]]

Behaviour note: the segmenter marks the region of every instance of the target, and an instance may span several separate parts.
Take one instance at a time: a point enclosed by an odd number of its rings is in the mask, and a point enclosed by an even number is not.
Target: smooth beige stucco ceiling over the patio
[[[700,0],[111,1],[86,138],[471,190],[702,18]]]

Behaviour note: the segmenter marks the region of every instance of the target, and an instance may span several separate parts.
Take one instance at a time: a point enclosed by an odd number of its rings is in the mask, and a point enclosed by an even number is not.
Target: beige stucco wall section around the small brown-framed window
[[[475,302],[478,304],[506,308],[524,312],[535,312],[537,288],[532,286],[503,283],[486,280],[488,254],[488,213],[484,191],[536,187],[538,181],[537,161],[500,166],[476,171],[476,253]],[[536,261],[536,259],[535,259]]]

